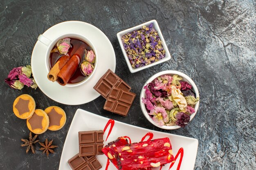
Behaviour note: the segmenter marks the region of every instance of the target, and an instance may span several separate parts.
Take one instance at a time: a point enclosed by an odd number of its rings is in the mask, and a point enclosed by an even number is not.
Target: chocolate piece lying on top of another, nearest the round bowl
[[[103,108],[110,112],[127,116],[135,96],[135,93],[113,86]]]

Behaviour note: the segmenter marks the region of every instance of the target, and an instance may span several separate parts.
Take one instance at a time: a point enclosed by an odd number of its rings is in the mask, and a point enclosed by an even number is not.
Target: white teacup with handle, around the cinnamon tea
[[[48,46],[47,51],[45,53],[45,66],[46,66],[47,73],[49,73],[49,71],[50,71],[50,66],[49,66],[50,53],[51,53],[52,49],[54,48],[54,46],[56,45],[56,43],[58,42],[58,40],[63,39],[63,38],[76,38],[78,40],[81,40],[81,41],[85,42],[86,44],[88,44],[92,48],[92,50],[94,51],[94,54],[96,56],[95,57],[95,63],[94,63],[94,69],[93,69],[91,75],[89,75],[86,79],[84,79],[81,82],[74,83],[74,84],[69,84],[68,83],[68,84],[65,85],[67,87],[80,86],[80,85],[84,84],[85,82],[88,82],[89,79],[91,79],[92,75],[95,73],[95,70],[97,68],[97,63],[98,63],[97,50],[88,38],[86,38],[85,36],[83,36],[81,34],[78,34],[78,33],[65,33],[65,34],[59,35],[58,37],[54,38],[54,40],[49,40],[44,35],[40,34],[38,36],[37,40],[42,42],[46,46]],[[78,69],[80,69],[80,68],[78,68]],[[54,82],[54,83],[57,83],[57,82]]]

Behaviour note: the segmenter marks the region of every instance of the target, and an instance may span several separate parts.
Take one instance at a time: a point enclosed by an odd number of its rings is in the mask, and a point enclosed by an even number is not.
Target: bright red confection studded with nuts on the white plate
[[[174,161],[169,138],[128,144],[124,137],[106,145],[103,153],[118,170],[137,170],[163,166]]]

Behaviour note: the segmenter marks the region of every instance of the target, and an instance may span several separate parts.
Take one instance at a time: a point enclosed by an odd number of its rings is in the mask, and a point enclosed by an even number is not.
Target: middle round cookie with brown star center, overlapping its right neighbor
[[[45,132],[49,127],[49,117],[42,109],[36,109],[34,114],[27,119],[27,127],[35,134]]]

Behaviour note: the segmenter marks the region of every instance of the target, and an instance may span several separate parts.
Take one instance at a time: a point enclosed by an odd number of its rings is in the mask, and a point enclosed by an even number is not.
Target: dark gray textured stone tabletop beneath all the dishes
[[[255,148],[255,25],[254,0],[0,0],[0,169],[57,170],[67,131],[77,108],[118,121],[198,139],[195,170],[252,170]],[[130,73],[116,33],[149,20],[157,20],[172,55],[168,62]],[[59,104],[40,89],[11,89],[4,83],[13,67],[30,64],[39,34],[59,22],[79,20],[97,26],[112,43],[116,73],[137,94],[127,117],[103,110],[105,100],[79,106]],[[198,86],[200,108],[185,128],[162,130],[150,124],[139,106],[143,84],[153,74],[177,70]],[[37,108],[57,105],[67,123],[38,139],[54,139],[56,153],[26,154],[21,138],[29,130],[12,111],[21,94],[34,97]],[[72,157],[72,155],[70,155]],[[185,162],[184,162],[185,163]],[[103,168],[104,169],[104,168]]]

